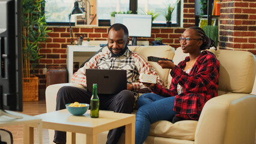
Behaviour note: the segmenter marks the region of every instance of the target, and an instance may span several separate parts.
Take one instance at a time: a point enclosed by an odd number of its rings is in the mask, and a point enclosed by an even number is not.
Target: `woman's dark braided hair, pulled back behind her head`
[[[215,41],[209,38],[203,29],[198,26],[190,27],[189,29],[194,29],[197,32],[198,37],[201,37],[203,44],[200,46],[200,50],[210,49],[210,47],[213,46],[215,47],[215,50],[217,49],[215,46]]]

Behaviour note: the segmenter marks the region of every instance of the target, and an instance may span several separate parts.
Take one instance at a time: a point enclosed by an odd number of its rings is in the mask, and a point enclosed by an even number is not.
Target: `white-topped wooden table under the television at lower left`
[[[11,115],[22,116],[21,119],[11,118],[8,116],[0,116],[0,127],[8,125],[20,125],[23,124],[23,143],[34,143],[34,127],[38,128],[38,143],[43,143],[42,139],[42,121],[41,118],[25,115],[22,113],[12,112],[6,110]]]

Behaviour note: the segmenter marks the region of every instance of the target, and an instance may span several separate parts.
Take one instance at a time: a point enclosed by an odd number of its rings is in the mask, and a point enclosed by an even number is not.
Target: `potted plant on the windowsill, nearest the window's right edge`
[[[180,2],[180,0],[177,0],[175,2],[168,1],[166,11],[165,11],[165,20],[166,20],[166,26],[171,26],[171,14],[173,10],[175,9],[176,5]]]

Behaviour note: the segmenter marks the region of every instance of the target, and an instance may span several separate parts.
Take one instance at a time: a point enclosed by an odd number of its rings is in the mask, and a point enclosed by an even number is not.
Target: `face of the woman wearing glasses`
[[[197,33],[194,29],[187,29],[181,35],[183,38],[190,38],[189,43],[185,40],[180,42],[181,49],[184,53],[198,53],[200,52],[200,46],[203,41],[200,40],[200,37],[197,36]]]

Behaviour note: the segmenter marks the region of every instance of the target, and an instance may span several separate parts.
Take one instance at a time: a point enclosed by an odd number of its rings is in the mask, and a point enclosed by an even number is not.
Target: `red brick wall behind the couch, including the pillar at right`
[[[224,0],[221,2],[221,49],[248,50],[256,55],[256,4],[255,0],[253,1],[254,2],[250,2],[249,0],[236,0],[236,2],[234,2]],[[154,38],[162,37],[163,43],[175,48],[179,47],[180,43],[178,42],[178,37],[184,32],[184,29],[195,25],[194,2],[194,0],[184,0],[183,28],[153,27],[150,38],[139,37],[138,40],[148,40],[151,43]],[[236,12],[233,13],[233,11]],[[244,19],[243,16],[247,16],[248,19]],[[85,37],[90,37],[91,40],[107,40],[108,28],[109,26],[73,26],[74,41],[76,40],[76,35],[85,35]],[[46,88],[46,74],[43,73],[43,68],[47,68],[51,65],[66,67],[67,45],[71,42],[69,26],[49,26],[49,29],[52,30],[52,32],[49,32],[47,43],[41,44],[43,49],[40,49],[40,55],[43,56],[43,58],[40,59],[40,64],[35,69],[36,75],[39,77],[40,89]]]

